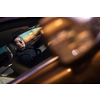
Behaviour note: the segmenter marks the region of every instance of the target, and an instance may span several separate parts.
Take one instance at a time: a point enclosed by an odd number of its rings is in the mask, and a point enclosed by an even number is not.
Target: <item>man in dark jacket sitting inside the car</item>
[[[28,67],[33,67],[52,55],[48,49],[44,52],[37,49],[42,44],[41,39],[33,45],[26,46],[21,38],[16,37],[13,39],[13,43],[17,49],[16,52],[18,61]]]

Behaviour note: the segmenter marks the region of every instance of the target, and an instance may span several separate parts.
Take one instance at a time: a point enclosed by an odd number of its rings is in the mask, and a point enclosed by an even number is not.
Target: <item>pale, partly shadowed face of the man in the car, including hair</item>
[[[21,38],[19,38],[19,37],[15,38],[14,43],[15,43],[15,47],[17,49],[19,49],[19,50],[24,50],[25,49],[25,43]]]

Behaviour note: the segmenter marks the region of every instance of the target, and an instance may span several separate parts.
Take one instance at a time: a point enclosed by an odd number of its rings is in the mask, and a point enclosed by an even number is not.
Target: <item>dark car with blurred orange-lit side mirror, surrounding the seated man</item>
[[[1,17],[0,84],[100,83],[100,18]],[[26,45],[39,39],[39,49],[52,55],[29,68],[17,61],[12,39]]]

